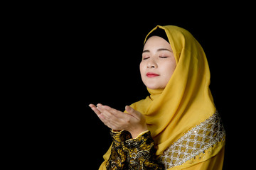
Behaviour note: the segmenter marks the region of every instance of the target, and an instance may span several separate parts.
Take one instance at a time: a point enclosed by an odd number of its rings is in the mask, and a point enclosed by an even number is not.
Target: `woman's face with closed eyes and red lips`
[[[143,48],[139,69],[142,81],[149,89],[164,89],[176,68],[169,42],[159,36],[149,38]]]

